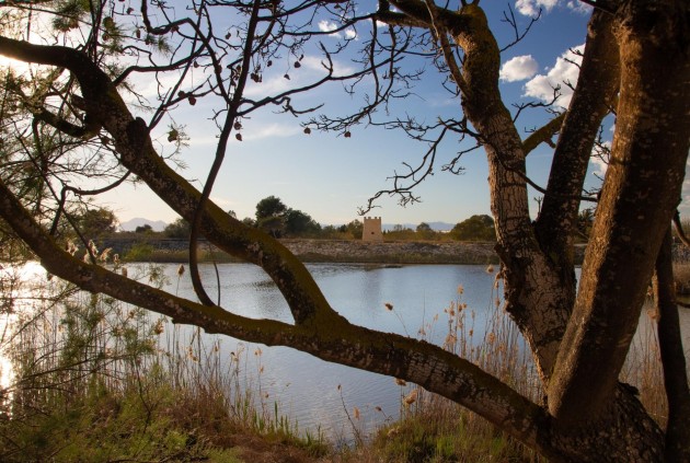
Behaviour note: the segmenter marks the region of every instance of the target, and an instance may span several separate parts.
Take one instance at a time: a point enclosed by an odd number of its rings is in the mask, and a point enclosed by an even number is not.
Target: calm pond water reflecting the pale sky
[[[134,267],[131,270],[135,270]],[[179,278],[177,265],[163,265],[168,277],[166,290],[194,299],[188,271]],[[474,331],[474,342],[481,343],[486,316],[496,301],[495,274],[484,266],[424,265],[387,267],[349,264],[314,264],[309,269],[326,298],[350,322],[370,328],[395,332],[418,337],[418,329],[426,328],[426,338],[440,344],[447,334],[444,309],[451,303],[467,303],[467,329]],[[28,271],[31,270],[31,271]],[[200,267],[203,280],[211,299],[217,290],[214,267]],[[257,319],[276,319],[291,322],[289,310],[271,279],[258,267],[248,264],[222,264],[220,274],[220,300],[225,309]],[[45,280],[45,270],[37,265],[27,267]],[[130,275],[133,271],[130,271]],[[462,287],[462,293],[458,291]],[[384,304],[393,305],[393,311]],[[434,323],[435,315],[440,315]],[[680,309],[686,357],[690,352],[690,310]],[[641,332],[648,332],[648,317],[643,314]],[[0,328],[2,328],[0,326]],[[188,339],[194,328],[181,327],[182,337]],[[171,336],[170,325],[162,342]],[[318,427],[331,438],[352,436],[347,414],[354,407],[360,410],[357,421],[363,431],[373,430],[386,416],[398,418],[401,387],[389,377],[326,363],[307,354],[285,347],[267,348],[251,345],[228,336],[203,335],[205,346],[219,340],[221,361],[230,363],[231,352],[243,352],[242,381],[253,390],[261,387],[268,394],[264,403],[299,424],[299,429],[315,430]],[[261,355],[254,352],[261,349]],[[7,359],[0,358],[7,363]],[[689,362],[690,366],[690,362]],[[7,373],[8,366],[2,368]],[[263,372],[260,369],[263,367]],[[338,389],[338,385],[341,386]],[[375,407],[380,407],[379,413]]]

